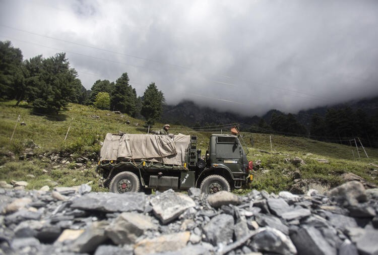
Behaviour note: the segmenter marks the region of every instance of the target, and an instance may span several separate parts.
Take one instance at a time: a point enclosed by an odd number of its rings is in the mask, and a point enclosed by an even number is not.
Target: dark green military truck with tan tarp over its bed
[[[238,137],[225,134],[210,136],[206,156],[196,136],[107,134],[98,163],[103,185],[114,193],[199,187],[214,194],[244,187],[251,170]]]

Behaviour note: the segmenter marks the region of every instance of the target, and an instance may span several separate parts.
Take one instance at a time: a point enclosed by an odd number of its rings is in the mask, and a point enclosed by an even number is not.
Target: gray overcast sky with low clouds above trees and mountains
[[[242,115],[378,95],[376,0],[0,0],[0,40],[66,52],[87,89],[127,72],[139,96]]]

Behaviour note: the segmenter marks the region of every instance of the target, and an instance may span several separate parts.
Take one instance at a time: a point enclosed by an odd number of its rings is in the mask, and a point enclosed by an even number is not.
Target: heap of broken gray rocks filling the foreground
[[[378,254],[378,189],[320,195],[0,189],[0,254]]]

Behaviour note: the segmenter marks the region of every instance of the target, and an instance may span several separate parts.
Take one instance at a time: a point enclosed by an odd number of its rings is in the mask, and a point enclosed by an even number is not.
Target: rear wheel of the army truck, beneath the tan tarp
[[[141,184],[135,173],[120,172],[111,179],[109,189],[113,193],[139,192]]]

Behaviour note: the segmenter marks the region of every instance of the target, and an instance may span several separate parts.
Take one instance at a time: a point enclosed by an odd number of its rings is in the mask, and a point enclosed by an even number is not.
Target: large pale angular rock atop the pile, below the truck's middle
[[[163,224],[178,218],[186,209],[195,207],[196,203],[190,197],[167,190],[150,201],[152,210]]]

